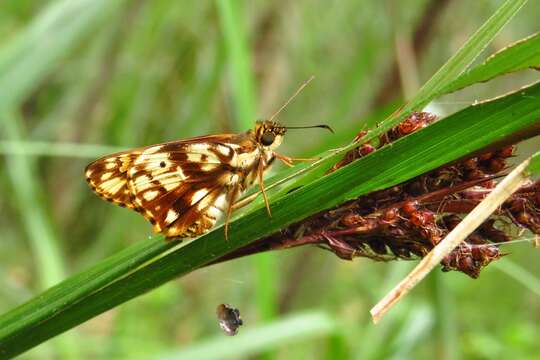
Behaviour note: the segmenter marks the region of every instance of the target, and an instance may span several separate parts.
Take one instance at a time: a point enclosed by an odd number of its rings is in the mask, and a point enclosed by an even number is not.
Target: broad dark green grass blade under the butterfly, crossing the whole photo
[[[0,317],[0,349],[4,354],[21,353],[320,210],[401,183],[490,144],[515,141],[524,134],[532,136],[540,131],[539,96],[540,83],[471,106],[297,191],[274,196],[272,218],[267,217],[263,206],[236,218],[230,226],[229,241],[224,241],[220,227],[174,249],[161,242],[126,249],[122,259],[120,255],[107,259]],[[138,254],[138,249],[145,249],[145,253]],[[162,255],[152,259],[157,254]]]

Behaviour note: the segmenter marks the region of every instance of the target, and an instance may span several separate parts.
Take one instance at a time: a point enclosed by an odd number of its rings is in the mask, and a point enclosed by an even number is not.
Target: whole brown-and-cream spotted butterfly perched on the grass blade
[[[332,131],[327,125],[285,127],[272,120],[277,113],[245,133],[200,136],[105,156],[86,167],[86,181],[103,199],[142,214],[154,232],[168,239],[197,237],[223,214],[227,238],[235,203],[253,183],[258,182],[271,214],[263,175],[274,160],[287,165],[307,160],[275,152],[287,129]]]

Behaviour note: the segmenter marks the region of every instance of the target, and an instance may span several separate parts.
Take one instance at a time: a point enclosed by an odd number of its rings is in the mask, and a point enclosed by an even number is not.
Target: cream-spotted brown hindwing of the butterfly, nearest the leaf
[[[172,143],[141,154],[129,170],[129,187],[156,232],[192,237],[214,226],[234,186],[226,158],[233,151],[222,143]]]

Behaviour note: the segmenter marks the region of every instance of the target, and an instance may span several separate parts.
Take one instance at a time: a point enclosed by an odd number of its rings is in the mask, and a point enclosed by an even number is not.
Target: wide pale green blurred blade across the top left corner
[[[20,103],[63,56],[122,3],[52,2],[24,31],[0,48],[0,113]]]

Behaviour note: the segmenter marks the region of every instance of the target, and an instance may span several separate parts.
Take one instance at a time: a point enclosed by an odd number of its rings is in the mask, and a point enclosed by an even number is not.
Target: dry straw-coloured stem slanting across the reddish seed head
[[[418,284],[426,275],[440,264],[467,236],[480,226],[497,208],[528,180],[529,157],[517,166],[501,183],[476,206],[420,263],[382,298],[371,310],[373,322],[377,324],[405,294]]]

